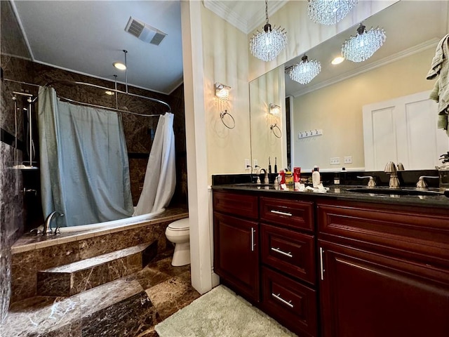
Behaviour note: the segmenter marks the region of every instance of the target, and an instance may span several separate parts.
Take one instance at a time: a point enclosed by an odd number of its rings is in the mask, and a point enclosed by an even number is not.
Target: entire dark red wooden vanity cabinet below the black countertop
[[[215,272],[298,336],[448,337],[449,203],[401,200],[214,187]]]

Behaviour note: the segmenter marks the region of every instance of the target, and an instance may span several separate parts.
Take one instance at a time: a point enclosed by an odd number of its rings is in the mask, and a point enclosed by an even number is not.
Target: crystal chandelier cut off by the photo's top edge
[[[335,25],[357,2],[358,0],[309,0],[309,18],[322,25]]]

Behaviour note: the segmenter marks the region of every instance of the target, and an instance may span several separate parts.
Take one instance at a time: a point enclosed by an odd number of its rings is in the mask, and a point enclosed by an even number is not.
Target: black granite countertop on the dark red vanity
[[[258,185],[253,183],[242,184],[228,184],[228,185],[213,185],[213,190],[239,190],[258,192],[261,195],[269,194],[272,197],[280,197],[281,195],[288,195],[289,197],[295,195],[298,197],[309,198],[330,198],[330,199],[344,199],[351,201],[370,201],[374,203],[382,204],[398,204],[398,205],[412,205],[412,206],[424,206],[424,207],[438,207],[449,208],[449,197],[445,197],[442,190],[438,188],[429,188],[428,191],[432,195],[407,195],[401,194],[406,191],[410,193],[419,193],[414,187],[403,187],[398,189],[398,194],[382,194],[382,192],[389,192],[388,186],[377,186],[373,188],[373,191],[368,191],[366,185],[330,185],[329,190],[326,192],[315,191],[294,191],[292,190],[276,190],[271,185]],[[353,190],[367,190],[367,192],[354,192]],[[440,192],[441,194],[438,194]],[[425,192],[423,192],[425,193]]]

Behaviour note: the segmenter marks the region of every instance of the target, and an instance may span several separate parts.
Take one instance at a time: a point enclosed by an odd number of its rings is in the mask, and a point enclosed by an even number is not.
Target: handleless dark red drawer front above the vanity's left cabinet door
[[[259,216],[258,197],[232,192],[213,192],[213,210],[234,216],[257,219]]]

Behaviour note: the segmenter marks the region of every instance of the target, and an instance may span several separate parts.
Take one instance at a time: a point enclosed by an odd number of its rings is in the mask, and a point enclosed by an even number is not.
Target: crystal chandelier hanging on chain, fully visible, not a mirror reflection
[[[258,59],[265,62],[272,61],[286,47],[287,32],[281,27],[276,28],[268,23],[268,1],[265,0],[265,18],[267,23],[264,31],[259,32],[250,39],[250,51]]]

